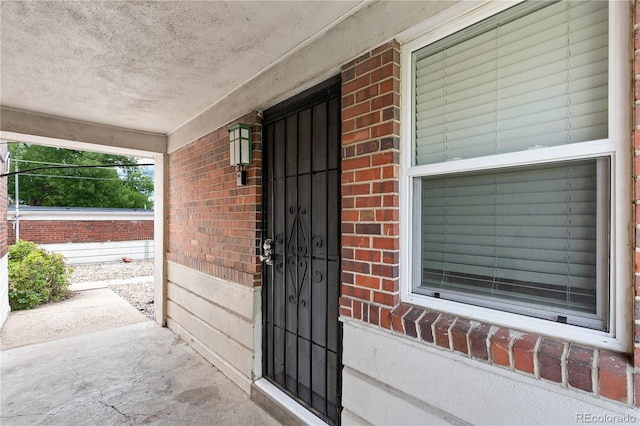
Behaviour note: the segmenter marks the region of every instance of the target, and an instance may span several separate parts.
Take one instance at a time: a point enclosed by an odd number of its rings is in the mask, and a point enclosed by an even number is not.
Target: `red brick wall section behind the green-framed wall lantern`
[[[261,122],[253,125],[247,185],[229,165],[229,123],[169,155],[167,260],[247,286],[261,284]]]

